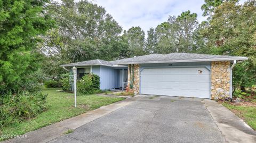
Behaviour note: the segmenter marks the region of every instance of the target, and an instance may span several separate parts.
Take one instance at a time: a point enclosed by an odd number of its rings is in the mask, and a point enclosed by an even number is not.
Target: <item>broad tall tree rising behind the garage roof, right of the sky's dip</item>
[[[156,27],[154,34],[151,34],[152,30],[150,31],[149,34],[151,35],[148,35],[148,37],[155,40],[155,43],[150,43],[153,46],[147,46],[147,48],[150,49],[151,53],[153,51],[159,54],[195,52],[197,47],[195,46],[194,33],[198,27],[196,18],[197,14],[190,13],[190,11],[182,12],[177,18],[169,16],[167,22],[163,22]],[[149,41],[148,39],[147,43]]]

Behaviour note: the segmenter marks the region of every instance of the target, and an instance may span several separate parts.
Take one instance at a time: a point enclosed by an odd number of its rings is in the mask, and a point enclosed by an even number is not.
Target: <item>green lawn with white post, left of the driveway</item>
[[[72,93],[59,92],[57,88],[43,89],[43,93],[48,94],[45,104],[47,110],[45,112],[38,114],[29,121],[4,127],[0,129],[0,134],[1,131],[3,136],[24,134],[124,99],[97,95],[77,96],[77,108],[75,108],[74,94]],[[1,136],[0,140],[3,140]]]

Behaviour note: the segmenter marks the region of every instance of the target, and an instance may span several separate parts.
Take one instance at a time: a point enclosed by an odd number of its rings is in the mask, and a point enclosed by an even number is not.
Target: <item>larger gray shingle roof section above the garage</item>
[[[206,55],[189,53],[151,54],[145,56],[125,58],[112,61],[113,64],[135,64],[135,63],[175,63],[175,62],[203,62],[203,61],[232,61],[247,60],[247,57],[227,55]]]

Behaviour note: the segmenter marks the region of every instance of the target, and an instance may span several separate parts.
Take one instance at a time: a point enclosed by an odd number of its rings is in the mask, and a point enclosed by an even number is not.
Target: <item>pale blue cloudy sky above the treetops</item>
[[[177,16],[187,10],[197,13],[199,22],[206,20],[201,10],[204,0],[94,0],[92,2],[105,7],[107,13],[111,14],[124,30],[140,26],[147,33],[150,27],[155,28],[158,24],[167,21],[169,15]]]

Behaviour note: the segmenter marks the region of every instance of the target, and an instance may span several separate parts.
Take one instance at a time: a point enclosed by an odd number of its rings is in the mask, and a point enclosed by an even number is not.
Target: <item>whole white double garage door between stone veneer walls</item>
[[[210,98],[206,68],[152,68],[140,74],[141,94]]]

